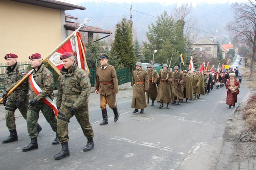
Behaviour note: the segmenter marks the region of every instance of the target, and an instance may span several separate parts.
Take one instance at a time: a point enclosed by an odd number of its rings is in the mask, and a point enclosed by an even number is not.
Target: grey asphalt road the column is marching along
[[[249,91],[240,88],[238,103]],[[90,95],[90,122],[95,133],[95,148],[83,152],[86,138],[75,117],[69,123],[70,157],[54,160],[61,145],[51,145],[55,133],[40,114],[43,130],[38,136],[39,148],[22,152],[30,143],[26,121],[20,113],[16,116],[18,141],[0,143],[0,169],[70,169],[70,170],[213,170],[222,150],[227,120],[235,108],[225,104],[226,89],[220,88],[199,100],[183,102],[170,109],[159,109],[160,104],[149,106],[143,114],[132,113],[132,90],[117,95],[120,118],[113,120],[108,108],[109,124],[100,126],[102,120],[99,96]],[[4,107],[0,106],[0,141],[8,137]]]

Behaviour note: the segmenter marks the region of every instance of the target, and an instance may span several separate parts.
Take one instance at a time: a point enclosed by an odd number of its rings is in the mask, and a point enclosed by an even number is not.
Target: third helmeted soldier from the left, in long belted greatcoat
[[[161,104],[159,109],[164,107],[164,103],[167,104],[166,108],[169,109],[169,104],[173,100],[173,96],[171,93],[170,87],[170,78],[172,76],[172,69],[168,70],[168,65],[163,64],[163,70],[158,75],[158,80],[160,80],[158,86],[158,95],[156,100],[159,101]]]

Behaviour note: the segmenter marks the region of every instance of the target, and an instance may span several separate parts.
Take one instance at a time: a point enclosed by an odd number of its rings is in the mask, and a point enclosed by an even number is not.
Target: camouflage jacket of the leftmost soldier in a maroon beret
[[[4,87],[8,92],[12,89],[13,84],[18,80],[22,79],[26,75],[26,71],[21,68],[18,63],[15,63],[13,68],[7,67],[4,74]],[[25,98],[28,97],[28,79],[24,80],[20,86],[18,86],[9,96],[10,101],[20,101],[23,102]]]

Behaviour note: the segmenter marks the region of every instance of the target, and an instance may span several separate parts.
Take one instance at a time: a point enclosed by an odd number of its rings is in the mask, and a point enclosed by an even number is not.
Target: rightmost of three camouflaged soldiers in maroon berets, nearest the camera
[[[66,52],[60,59],[63,61],[63,67],[60,70],[58,82],[57,108],[59,110],[58,136],[62,150],[54,156],[57,160],[69,156],[68,122],[74,115],[87,138],[84,152],[92,150],[94,147],[92,139],[94,133],[88,113],[88,98],[91,88],[89,76],[76,65],[72,53]]]

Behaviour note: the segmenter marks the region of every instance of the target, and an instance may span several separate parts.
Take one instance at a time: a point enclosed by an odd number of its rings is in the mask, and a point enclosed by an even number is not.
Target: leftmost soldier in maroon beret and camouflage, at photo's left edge
[[[14,112],[18,108],[21,115],[24,119],[27,118],[27,109],[28,109],[28,79],[24,80],[20,86],[18,86],[9,96],[6,98],[7,93],[12,89],[12,84],[16,83],[18,80],[22,79],[26,75],[26,71],[19,66],[17,62],[18,56],[15,54],[7,54],[4,59],[7,61],[7,69],[4,74],[4,106],[5,107],[5,118],[6,126],[10,131],[10,136],[3,141],[3,143],[9,143],[18,140],[18,135],[15,125],[15,116]],[[7,101],[7,102],[6,102]],[[42,130],[40,125],[39,129]]]

